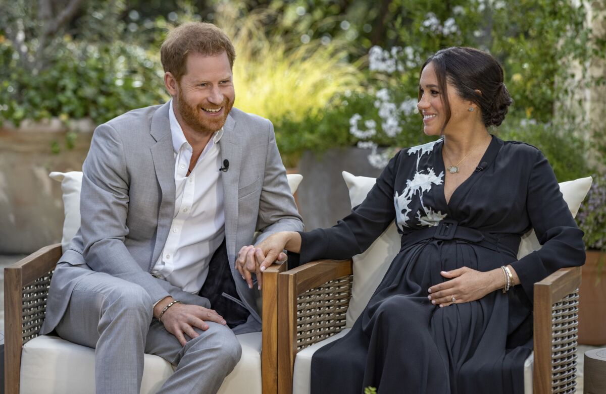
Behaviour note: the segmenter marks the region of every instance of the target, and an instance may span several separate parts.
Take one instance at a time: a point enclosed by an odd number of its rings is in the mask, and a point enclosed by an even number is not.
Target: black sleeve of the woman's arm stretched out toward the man
[[[350,258],[364,252],[395,218],[394,184],[402,151],[378,177],[366,199],[338,224],[301,232],[301,264],[319,258]]]

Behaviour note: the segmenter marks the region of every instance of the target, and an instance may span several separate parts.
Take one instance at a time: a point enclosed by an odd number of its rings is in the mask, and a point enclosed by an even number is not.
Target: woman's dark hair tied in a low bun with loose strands
[[[462,99],[478,105],[485,126],[501,125],[507,114],[507,107],[513,103],[513,100],[503,83],[503,68],[494,56],[475,48],[450,47],[431,55],[421,67],[421,73],[430,63],[433,64],[438,76],[441,99],[446,108],[446,121],[442,130],[450,120],[447,80],[456,88]],[[421,100],[420,89],[419,100]]]

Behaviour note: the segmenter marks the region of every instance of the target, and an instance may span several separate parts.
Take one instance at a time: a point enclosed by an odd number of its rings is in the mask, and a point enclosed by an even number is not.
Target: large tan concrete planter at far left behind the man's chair
[[[68,149],[67,131],[55,123],[0,128],[0,254],[28,254],[61,241],[61,184],[48,174],[81,171],[93,130],[77,133]]]

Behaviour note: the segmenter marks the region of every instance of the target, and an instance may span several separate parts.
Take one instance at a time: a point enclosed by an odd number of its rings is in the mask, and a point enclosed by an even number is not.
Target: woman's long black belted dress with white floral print
[[[533,283],[585,261],[582,231],[551,166],[533,146],[492,137],[471,174],[444,197],[442,140],[400,151],[364,202],[338,225],[301,233],[301,263],[363,252],[396,220],[402,248],[345,337],[319,349],[311,392],[522,393],[532,350]],[[344,202],[345,203],[345,202]],[[519,261],[534,228],[541,250]],[[511,264],[507,294],[438,307],[427,289],[440,271]]]

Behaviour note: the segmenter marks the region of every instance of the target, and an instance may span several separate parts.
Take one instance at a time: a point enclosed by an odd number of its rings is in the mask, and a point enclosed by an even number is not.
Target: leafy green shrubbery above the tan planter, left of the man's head
[[[90,117],[101,123],[167,98],[158,50],[146,51],[132,40],[128,25],[119,19],[125,7],[121,2],[116,7],[105,1],[85,2],[83,16],[47,47],[39,47],[44,35],[31,24],[36,7],[24,4],[17,1],[8,18],[13,24],[4,27],[4,33],[15,36],[14,30],[25,26],[22,36],[35,38],[24,42],[20,51],[16,38],[9,41],[0,30],[0,122]]]

